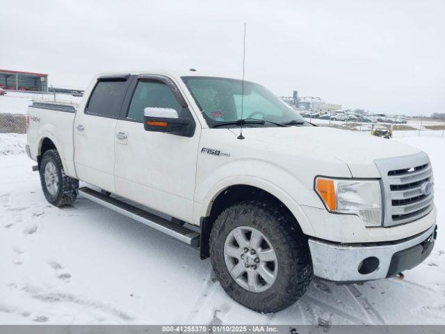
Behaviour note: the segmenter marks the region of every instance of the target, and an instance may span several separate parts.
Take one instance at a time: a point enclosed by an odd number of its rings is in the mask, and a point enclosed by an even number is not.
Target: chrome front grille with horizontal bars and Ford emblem
[[[375,160],[382,175],[384,226],[410,223],[426,216],[433,207],[433,193],[425,193],[433,183],[428,155],[424,152]]]

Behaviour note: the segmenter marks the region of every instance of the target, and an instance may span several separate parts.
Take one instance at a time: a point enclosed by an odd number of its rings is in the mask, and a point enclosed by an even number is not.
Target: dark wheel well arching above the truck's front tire
[[[273,196],[271,193],[259,189],[256,186],[248,186],[245,184],[237,184],[234,186],[229,186],[228,188],[221,191],[218,196],[213,200],[209,215],[207,217],[201,217],[201,240],[200,240],[200,255],[202,260],[209,257],[209,239],[210,232],[213,228],[213,223],[221,212],[223,212],[227,207],[230,207],[238,202],[244,202],[246,200],[266,200],[270,202],[271,205],[280,207],[282,209],[289,209],[283,204],[278,198]],[[292,213],[290,212],[292,215]],[[292,215],[293,216],[293,215]],[[298,228],[297,221],[295,221]]]

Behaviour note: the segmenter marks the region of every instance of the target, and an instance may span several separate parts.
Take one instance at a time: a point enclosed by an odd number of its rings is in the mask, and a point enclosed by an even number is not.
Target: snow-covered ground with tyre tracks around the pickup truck
[[[413,132],[408,132],[413,133]],[[0,136],[0,324],[445,324],[445,139],[399,140],[430,154],[439,239],[404,280],[314,281],[290,308],[261,315],[213,280],[196,250],[78,198],[49,205],[24,135]]]

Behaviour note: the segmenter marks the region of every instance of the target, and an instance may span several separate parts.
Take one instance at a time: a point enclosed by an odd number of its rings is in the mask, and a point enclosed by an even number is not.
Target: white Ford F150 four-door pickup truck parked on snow
[[[286,308],[313,276],[396,276],[434,246],[426,153],[316,127],[253,82],[102,74],[77,108],[35,102],[28,118],[51,204],[81,195],[199,248],[252,310]]]

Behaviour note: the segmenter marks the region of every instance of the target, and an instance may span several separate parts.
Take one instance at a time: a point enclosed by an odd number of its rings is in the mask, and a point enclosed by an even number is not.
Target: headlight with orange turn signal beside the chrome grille
[[[315,190],[330,212],[357,214],[366,226],[382,225],[382,193],[378,180],[317,177]]]

